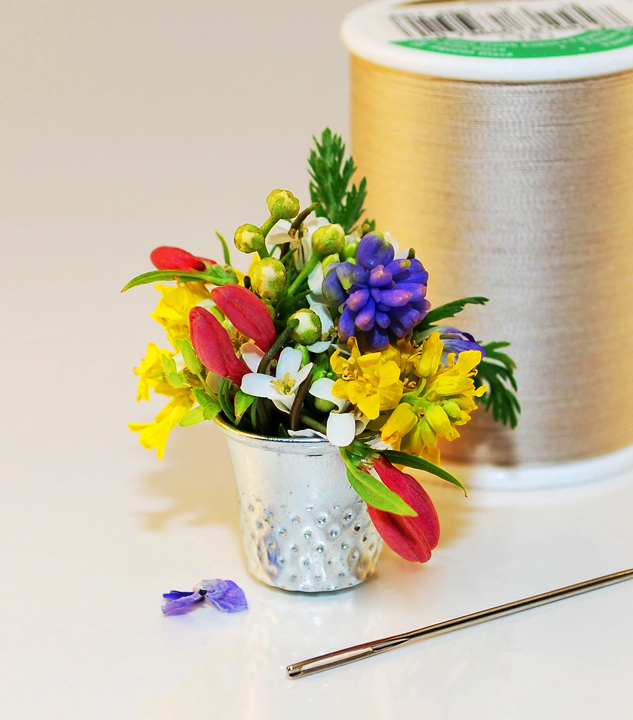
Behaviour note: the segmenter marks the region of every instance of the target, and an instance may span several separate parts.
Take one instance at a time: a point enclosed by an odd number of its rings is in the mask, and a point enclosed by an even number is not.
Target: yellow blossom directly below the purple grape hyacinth
[[[332,395],[349,400],[370,420],[384,410],[392,410],[404,392],[400,366],[390,358],[389,351],[361,355],[356,338],[349,340],[350,357],[341,357],[336,350],[330,359],[332,370],[340,375]]]

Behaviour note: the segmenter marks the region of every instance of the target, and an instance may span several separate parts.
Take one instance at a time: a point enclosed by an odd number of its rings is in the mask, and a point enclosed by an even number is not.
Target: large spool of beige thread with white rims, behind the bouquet
[[[342,34],[368,215],[517,362],[517,430],[479,411],[443,458],[507,488],[633,465],[633,2],[382,1]]]

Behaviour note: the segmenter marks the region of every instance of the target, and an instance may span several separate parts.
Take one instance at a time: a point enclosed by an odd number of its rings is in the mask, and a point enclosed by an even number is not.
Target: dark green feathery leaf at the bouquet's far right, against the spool
[[[495,422],[515,428],[519,422],[521,405],[516,396],[517,381],[514,377],[516,363],[501,348],[510,345],[508,342],[491,342],[484,345],[486,356],[477,367],[475,385],[487,385],[488,390],[481,398],[486,410],[492,413]]]

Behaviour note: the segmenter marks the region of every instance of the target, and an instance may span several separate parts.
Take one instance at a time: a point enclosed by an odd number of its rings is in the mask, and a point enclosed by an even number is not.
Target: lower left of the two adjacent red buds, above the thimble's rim
[[[193,349],[207,370],[240,385],[250,370],[236,357],[231,338],[218,319],[205,308],[194,307],[189,311],[189,327]]]

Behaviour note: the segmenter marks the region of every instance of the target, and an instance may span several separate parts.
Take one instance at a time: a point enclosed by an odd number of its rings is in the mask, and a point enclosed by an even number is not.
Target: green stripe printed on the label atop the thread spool
[[[633,28],[587,30],[554,40],[465,40],[464,38],[418,38],[394,40],[395,45],[445,53],[489,58],[539,58],[586,55],[633,45]]]

